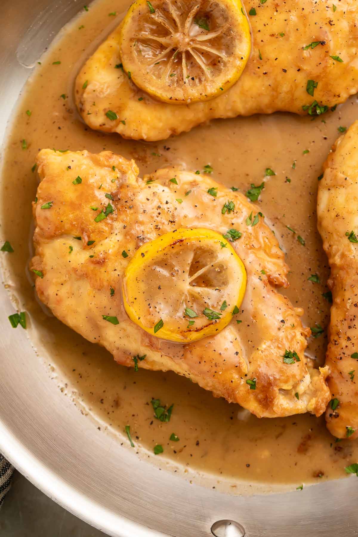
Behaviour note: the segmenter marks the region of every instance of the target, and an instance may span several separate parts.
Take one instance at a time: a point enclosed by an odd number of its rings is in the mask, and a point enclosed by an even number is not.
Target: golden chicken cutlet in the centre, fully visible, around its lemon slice
[[[37,164],[41,183],[33,203],[32,269],[40,271],[36,291],[56,317],[105,346],[119,364],[134,366],[133,358],[145,355],[139,368],[184,375],[259,417],[324,412],[330,400],[328,369],[313,368],[304,355],[310,330],[299,319],[302,310],[276,290],[289,285],[284,254],[265,217],[243,194],[178,169],[141,179],[133,161],[109,151],[44,149]],[[173,176],[178,184],[170,181]],[[216,196],[207,192],[213,188]],[[223,212],[225,204],[230,211]],[[246,268],[246,294],[239,314],[216,335],[172,343],[129,320],[123,273],[144,243],[178,228],[199,227],[242,233],[232,246]],[[115,316],[119,324],[103,315]],[[285,362],[286,351],[298,360]],[[255,389],[246,382],[252,379]]]

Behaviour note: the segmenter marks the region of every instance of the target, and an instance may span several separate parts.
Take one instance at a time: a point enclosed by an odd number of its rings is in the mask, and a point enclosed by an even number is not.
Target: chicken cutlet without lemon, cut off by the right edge
[[[327,427],[358,438],[358,122],[335,142],[318,189],[318,229],[331,267],[326,365],[332,401]]]

